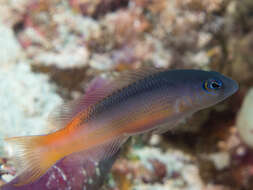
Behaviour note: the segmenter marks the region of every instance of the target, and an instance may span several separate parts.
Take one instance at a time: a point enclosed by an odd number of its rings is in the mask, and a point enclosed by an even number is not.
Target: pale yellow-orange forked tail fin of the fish
[[[14,164],[18,170],[15,186],[32,183],[39,179],[61,157],[57,151],[48,148],[46,136],[26,136],[5,139],[15,153]]]

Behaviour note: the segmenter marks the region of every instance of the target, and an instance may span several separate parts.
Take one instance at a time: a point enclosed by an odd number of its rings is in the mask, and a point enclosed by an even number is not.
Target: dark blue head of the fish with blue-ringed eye
[[[173,94],[179,99],[188,99],[185,106],[189,109],[212,106],[238,90],[236,81],[215,71],[171,70],[166,72],[166,78],[173,81]]]

